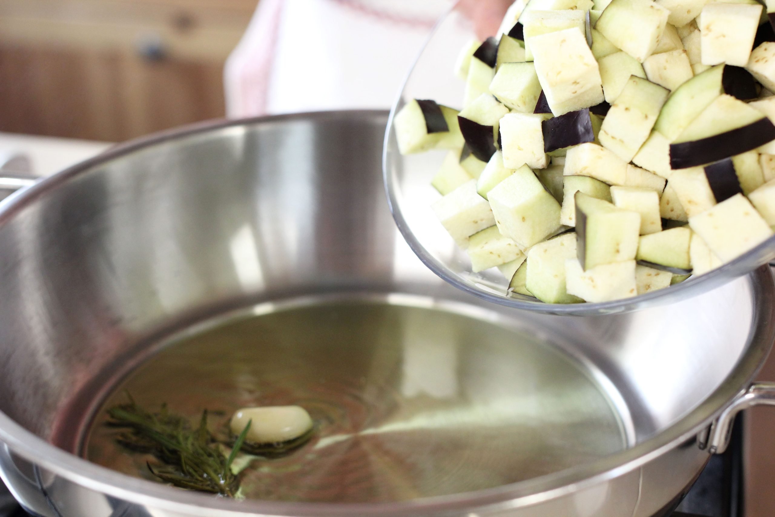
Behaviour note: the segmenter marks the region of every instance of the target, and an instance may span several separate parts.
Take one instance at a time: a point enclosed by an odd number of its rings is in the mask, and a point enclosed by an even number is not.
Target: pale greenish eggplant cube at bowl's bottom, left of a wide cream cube
[[[525,289],[545,303],[582,302],[568,294],[565,284],[565,262],[575,258],[576,253],[576,236],[572,233],[532,246],[525,261]]]

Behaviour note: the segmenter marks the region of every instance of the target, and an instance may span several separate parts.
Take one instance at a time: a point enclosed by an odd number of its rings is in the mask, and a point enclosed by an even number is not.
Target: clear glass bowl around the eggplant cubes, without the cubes
[[[467,26],[459,18],[460,13],[451,11],[436,26],[435,33],[430,37],[415,66],[408,74],[403,90],[394,104],[393,113],[398,112],[405,102],[413,98],[432,98],[444,105],[460,107],[464,81],[460,81],[454,75],[457,50],[450,49],[446,43],[453,34],[460,32],[461,27]],[[474,38],[473,32],[471,38]],[[436,73],[439,70],[446,70],[447,73]],[[429,71],[434,73],[430,74]],[[452,88],[453,84],[459,85],[457,91]],[[440,196],[430,182],[448,151],[401,156],[392,128],[392,116],[385,135],[384,147],[383,168],[388,202],[398,229],[401,230],[408,245],[434,273],[456,288],[488,302],[531,312],[561,315],[631,312],[691,298],[775,259],[775,236],[773,236],[742,257],[715,271],[646,295],[603,303],[562,305],[539,302],[536,298],[509,292],[508,281],[497,269],[471,273],[467,253],[455,245],[452,237],[436,219],[430,205]]]

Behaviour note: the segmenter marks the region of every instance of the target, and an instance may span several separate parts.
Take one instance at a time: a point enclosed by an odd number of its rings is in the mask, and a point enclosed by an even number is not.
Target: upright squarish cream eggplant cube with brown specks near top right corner
[[[751,56],[762,9],[758,4],[706,4],[698,18],[702,64],[726,63],[745,67]]]

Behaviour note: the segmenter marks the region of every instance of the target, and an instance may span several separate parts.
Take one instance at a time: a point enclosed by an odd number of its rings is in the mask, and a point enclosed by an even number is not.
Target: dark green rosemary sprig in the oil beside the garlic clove
[[[147,412],[129,398],[129,403],[108,409],[109,426],[126,428],[116,438],[119,444],[139,453],[150,453],[163,465],[152,467],[151,474],[180,488],[234,497],[239,477],[231,465],[245,442],[248,422],[225,457],[207,427],[207,410],[196,429],[188,420],[173,415],[167,405],[157,413]]]

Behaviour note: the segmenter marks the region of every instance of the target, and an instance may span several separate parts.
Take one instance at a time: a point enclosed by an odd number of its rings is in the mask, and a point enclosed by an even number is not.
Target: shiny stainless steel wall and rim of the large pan
[[[647,517],[694,479],[709,457],[698,434],[745,392],[775,338],[769,269],[622,315],[488,304],[429,272],[396,231],[379,176],[386,121],[332,112],[154,136],[0,205],[0,475],[26,506],[44,517]],[[75,415],[160,340],[332,295],[462,304],[558,347],[629,413],[632,446],[497,488],[379,504],[228,501],[68,452],[84,431]]]

